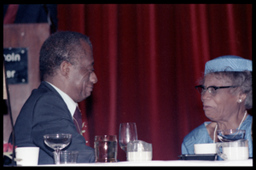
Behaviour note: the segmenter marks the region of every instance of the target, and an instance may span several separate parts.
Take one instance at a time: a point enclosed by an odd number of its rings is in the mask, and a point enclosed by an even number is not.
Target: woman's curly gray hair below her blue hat
[[[246,109],[253,108],[253,77],[251,71],[218,71],[208,74],[213,74],[218,79],[223,79],[224,77],[229,78],[231,86],[239,87],[241,93],[247,95],[245,99]]]

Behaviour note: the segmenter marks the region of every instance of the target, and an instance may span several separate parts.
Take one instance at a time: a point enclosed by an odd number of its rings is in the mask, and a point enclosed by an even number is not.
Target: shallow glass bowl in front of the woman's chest
[[[237,129],[225,129],[217,131],[218,139],[222,142],[232,142],[239,139],[244,139],[245,133],[245,130]]]

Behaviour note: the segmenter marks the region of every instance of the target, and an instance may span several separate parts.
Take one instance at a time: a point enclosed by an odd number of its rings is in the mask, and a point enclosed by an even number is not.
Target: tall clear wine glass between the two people
[[[120,123],[119,126],[119,146],[127,151],[127,144],[130,141],[137,140],[137,128],[135,122]]]

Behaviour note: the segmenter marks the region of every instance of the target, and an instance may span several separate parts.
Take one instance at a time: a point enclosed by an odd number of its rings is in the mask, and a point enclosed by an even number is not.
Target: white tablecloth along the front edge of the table
[[[207,166],[234,166],[234,167],[252,167],[253,159],[248,159],[245,161],[119,161],[119,162],[109,162],[109,163],[76,163],[76,164],[61,164],[61,165],[38,165],[38,166],[63,166],[63,167],[207,167]]]

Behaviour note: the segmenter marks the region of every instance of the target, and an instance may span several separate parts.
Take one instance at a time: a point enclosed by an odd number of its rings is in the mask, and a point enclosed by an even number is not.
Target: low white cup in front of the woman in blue
[[[195,154],[216,154],[216,144],[194,144]]]

